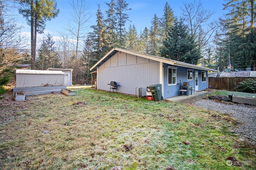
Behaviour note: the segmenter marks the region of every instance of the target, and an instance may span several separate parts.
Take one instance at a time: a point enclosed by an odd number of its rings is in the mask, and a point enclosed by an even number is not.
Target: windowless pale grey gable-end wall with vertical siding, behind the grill
[[[136,88],[142,88],[146,95],[146,86],[159,84],[160,63],[127,53],[116,53],[98,67],[98,89],[109,90],[110,81],[115,81],[118,92],[136,95]]]

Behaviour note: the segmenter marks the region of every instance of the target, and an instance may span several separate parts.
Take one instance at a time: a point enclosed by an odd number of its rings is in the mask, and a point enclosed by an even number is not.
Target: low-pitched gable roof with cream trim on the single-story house
[[[117,48],[117,47],[115,47],[112,50],[110,50],[104,57],[102,57],[102,59],[100,59],[96,64],[94,64],[94,66],[92,66],[92,68],[90,68],[90,70],[95,71],[98,66],[103,64],[112,55],[118,53],[119,51],[131,54],[131,55],[136,55],[138,57],[143,57],[143,58],[146,58],[146,59],[150,59],[150,60],[154,60],[154,61],[159,61],[159,62],[162,62],[162,63],[170,64],[170,65],[173,65],[173,66],[182,66],[182,67],[194,68],[194,69],[199,69],[199,70],[218,72],[218,70],[214,70],[212,68],[205,68],[205,67],[202,67],[202,66],[197,66],[197,65],[193,65],[193,64],[183,63],[183,62],[180,62],[180,61],[166,59],[166,58],[158,57],[158,56],[154,56],[154,55],[138,53],[138,52],[135,52],[135,51],[130,51],[130,50],[121,49],[121,48]]]

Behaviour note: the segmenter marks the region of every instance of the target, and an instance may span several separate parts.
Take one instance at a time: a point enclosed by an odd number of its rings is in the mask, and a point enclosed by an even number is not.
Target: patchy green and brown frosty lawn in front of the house
[[[2,107],[0,169],[256,167],[255,150],[228,132],[238,123],[228,115],[92,89],[75,94],[28,96],[12,102],[14,109]],[[248,162],[228,166],[227,156]]]

